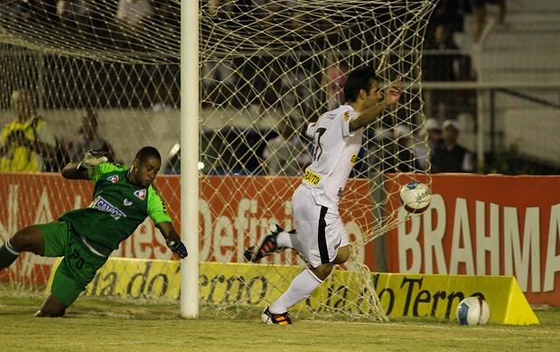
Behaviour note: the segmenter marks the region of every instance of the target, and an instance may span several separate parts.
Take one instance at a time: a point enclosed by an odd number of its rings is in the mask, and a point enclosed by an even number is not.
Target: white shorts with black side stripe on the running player
[[[341,246],[350,245],[338,209],[316,204],[307,187],[294,191],[292,214],[303,255],[313,268],[331,263]]]

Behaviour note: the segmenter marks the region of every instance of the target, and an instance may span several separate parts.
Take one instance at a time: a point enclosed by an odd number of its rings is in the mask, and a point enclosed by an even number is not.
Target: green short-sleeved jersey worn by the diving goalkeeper
[[[171,222],[154,187],[131,183],[126,178],[128,170],[108,162],[89,169],[89,179],[95,182],[93,200],[88,208],[70,210],[59,218],[70,222],[94,253],[110,255],[148,216],[156,225]]]

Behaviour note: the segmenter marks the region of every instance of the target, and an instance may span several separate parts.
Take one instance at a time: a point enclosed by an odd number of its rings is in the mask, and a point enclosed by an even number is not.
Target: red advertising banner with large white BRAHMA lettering
[[[389,272],[514,275],[529,303],[560,306],[560,177],[432,181],[430,208],[387,234]]]

